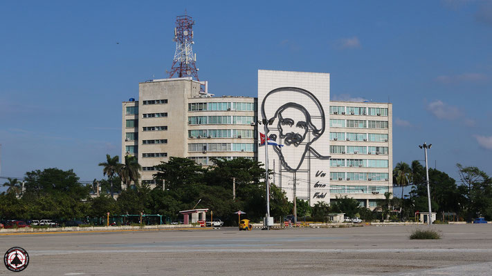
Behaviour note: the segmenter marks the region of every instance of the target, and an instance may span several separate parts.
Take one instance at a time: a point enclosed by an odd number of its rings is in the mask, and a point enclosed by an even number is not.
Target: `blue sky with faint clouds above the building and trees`
[[[425,141],[451,177],[492,175],[492,1],[233,2],[0,2],[0,177],[101,179],[121,102],[166,77],[185,12],[209,92],[256,97],[259,69],[329,72],[332,100],[393,104],[393,165]]]

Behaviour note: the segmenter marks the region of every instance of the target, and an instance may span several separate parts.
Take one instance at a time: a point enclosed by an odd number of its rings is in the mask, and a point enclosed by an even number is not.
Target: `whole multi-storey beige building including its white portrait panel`
[[[139,83],[138,100],[122,103],[122,157],[137,156],[141,181],[154,186],[155,166],[169,157],[265,164],[267,149],[271,181],[289,200],[347,196],[375,208],[392,193],[392,104],[330,101],[329,81],[259,70],[257,98],[213,97],[190,78]]]

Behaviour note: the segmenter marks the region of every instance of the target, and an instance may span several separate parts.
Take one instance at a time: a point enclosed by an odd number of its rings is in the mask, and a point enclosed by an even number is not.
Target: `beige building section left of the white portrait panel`
[[[255,158],[255,98],[212,97],[203,84],[155,79],[139,83],[137,101],[122,102],[122,162],[138,157],[142,183],[154,186],[155,166],[169,157],[203,166],[212,157]]]

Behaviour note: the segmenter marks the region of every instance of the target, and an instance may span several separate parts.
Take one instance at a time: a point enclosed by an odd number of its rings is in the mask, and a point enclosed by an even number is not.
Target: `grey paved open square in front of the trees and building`
[[[24,275],[490,275],[492,225],[237,228],[1,235]],[[6,268],[0,275],[11,274]]]

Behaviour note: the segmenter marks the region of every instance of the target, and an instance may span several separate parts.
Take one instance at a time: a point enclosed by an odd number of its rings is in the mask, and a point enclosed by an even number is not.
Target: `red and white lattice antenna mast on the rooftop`
[[[193,25],[192,17],[181,15],[176,17],[176,28],[174,28],[174,41],[176,41],[176,52],[172,61],[169,77],[192,77],[197,81],[197,54],[193,54]]]

